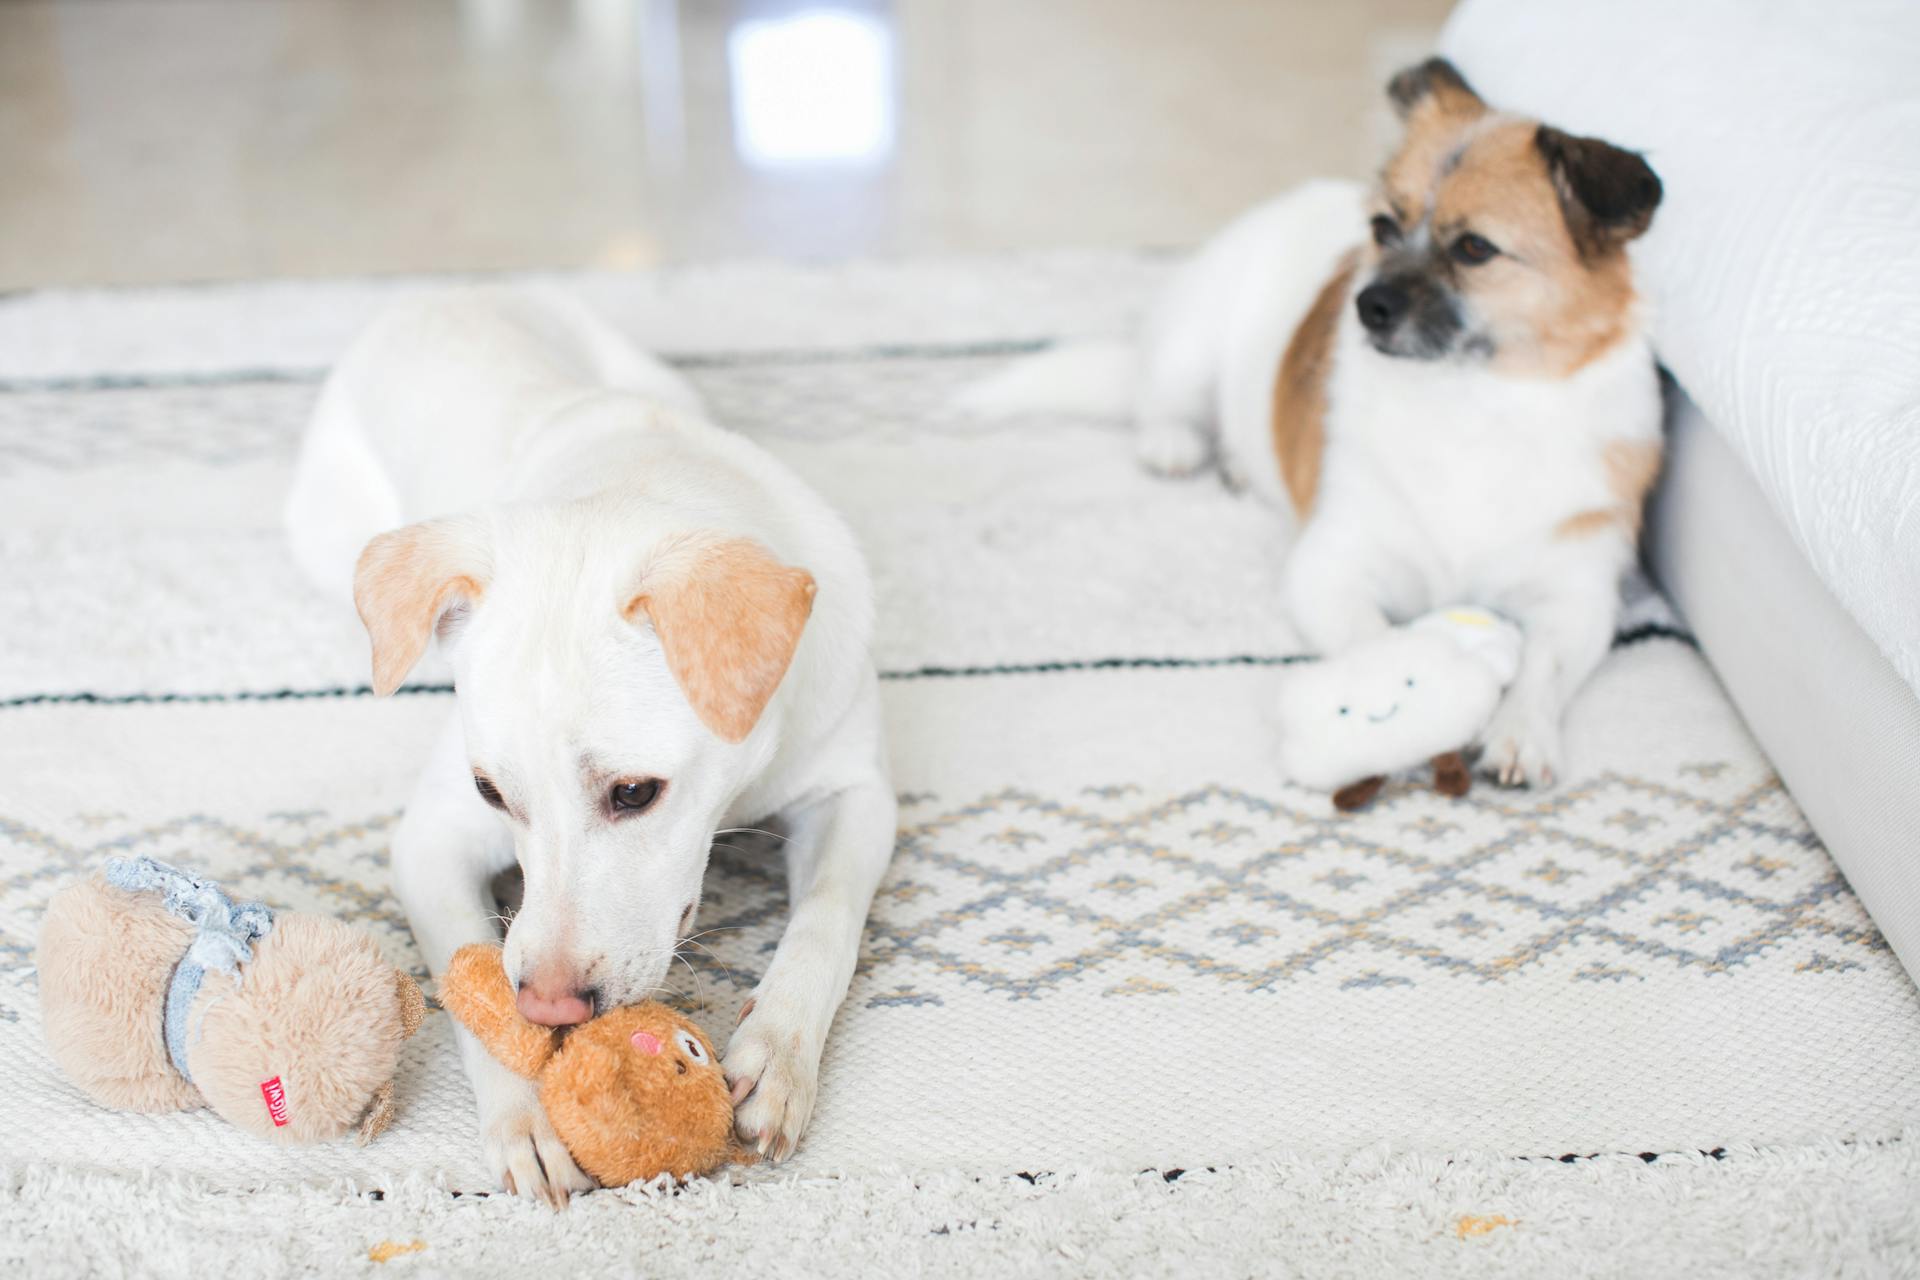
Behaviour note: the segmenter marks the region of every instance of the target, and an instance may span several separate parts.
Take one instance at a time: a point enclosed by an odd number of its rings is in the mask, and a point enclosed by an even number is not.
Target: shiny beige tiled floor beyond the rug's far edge
[[[1187,244],[1446,0],[13,0],[0,288]]]

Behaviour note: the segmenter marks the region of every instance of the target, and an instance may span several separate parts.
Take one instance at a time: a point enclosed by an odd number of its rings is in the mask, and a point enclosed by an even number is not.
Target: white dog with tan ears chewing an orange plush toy
[[[528,1019],[653,996],[714,837],[783,819],[791,921],[726,1071],[741,1136],[789,1153],[895,833],[841,520],[584,309],[476,290],[396,307],[340,361],[288,528],[317,581],[351,587],[378,693],[436,633],[451,656],[457,710],[394,837],[434,973],[497,936],[490,883],[518,864],[505,961]],[[461,1050],[505,1186],[589,1186],[534,1090]]]

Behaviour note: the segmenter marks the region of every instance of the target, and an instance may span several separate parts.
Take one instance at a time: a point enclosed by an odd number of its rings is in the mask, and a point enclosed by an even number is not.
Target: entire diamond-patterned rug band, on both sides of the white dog
[[[1069,986],[1258,992],[1336,981],[1417,984],[1626,981],[1649,965],[1740,977],[1836,973],[1885,942],[1780,783],[1682,791],[1605,773],[1538,800],[1446,802],[1411,785],[1336,816],[1323,796],[1233,787],[1156,796],[1002,789],[943,808],[904,796],[895,864],[874,904],[856,998],[885,1004],[1044,1000]],[[1632,816],[1630,839],[1596,839]],[[0,956],[29,961],[29,917],[71,875],[150,854],[244,896],[372,929],[424,977],[388,889],[396,814],[204,814],[132,823],[79,814],[73,837],[0,818]],[[29,906],[31,904],[31,906]],[[778,848],[716,848],[678,1002],[730,1009],[764,971],[785,915]],[[1599,950],[1578,944],[1594,942]],[[1594,956],[1599,956],[1596,961]],[[1342,958],[1342,963],[1329,963]],[[1363,969],[1354,969],[1354,960]]]

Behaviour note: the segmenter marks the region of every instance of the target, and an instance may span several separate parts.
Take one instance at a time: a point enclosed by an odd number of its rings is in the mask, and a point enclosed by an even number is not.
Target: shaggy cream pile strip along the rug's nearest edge
[[[564,1213],[428,1180],[217,1192],[0,1165],[0,1270],[67,1274],[1920,1274],[1920,1130],[1716,1153],[755,1174]]]

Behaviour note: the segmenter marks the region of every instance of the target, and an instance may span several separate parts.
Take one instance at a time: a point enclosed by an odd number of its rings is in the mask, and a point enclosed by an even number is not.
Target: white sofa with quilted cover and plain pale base
[[[1667,184],[1647,558],[1920,975],[1920,4],[1465,0],[1440,52]]]

